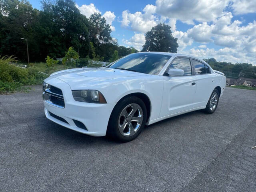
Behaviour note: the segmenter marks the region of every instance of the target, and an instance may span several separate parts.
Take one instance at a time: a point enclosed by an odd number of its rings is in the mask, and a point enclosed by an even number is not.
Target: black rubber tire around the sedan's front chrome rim
[[[142,114],[143,120],[138,130],[134,132],[132,136],[124,136],[119,130],[119,124],[120,124],[119,118],[120,118],[121,112],[130,104],[138,104],[140,106],[143,112]],[[108,121],[107,136],[110,136],[114,140],[118,140],[120,142],[129,142],[131,140],[134,140],[142,132],[146,123],[146,118],[147,118],[147,110],[144,102],[136,96],[127,96],[122,100],[120,100],[114,107],[110,115],[110,119]]]

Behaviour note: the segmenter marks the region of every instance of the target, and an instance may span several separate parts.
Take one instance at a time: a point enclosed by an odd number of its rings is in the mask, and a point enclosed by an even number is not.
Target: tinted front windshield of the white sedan
[[[136,53],[118,60],[109,68],[158,75],[170,58],[170,55]]]

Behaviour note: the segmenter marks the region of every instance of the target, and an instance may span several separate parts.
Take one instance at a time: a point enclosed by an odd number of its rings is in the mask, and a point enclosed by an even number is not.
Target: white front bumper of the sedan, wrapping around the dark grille
[[[80,133],[91,136],[106,135],[108,120],[115,103],[95,104],[78,102],[74,100],[70,86],[62,80],[54,78],[46,83],[60,88],[65,102],[65,108],[59,108],[44,101],[44,113],[46,118]],[[50,112],[60,118],[63,118],[66,122],[54,118],[50,115]],[[87,130],[77,127],[73,120],[82,122],[84,126],[86,126]]]

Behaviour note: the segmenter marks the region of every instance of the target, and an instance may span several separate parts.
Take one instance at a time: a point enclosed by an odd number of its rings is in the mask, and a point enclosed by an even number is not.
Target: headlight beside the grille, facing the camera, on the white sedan
[[[73,90],[74,100],[87,103],[107,103],[101,92],[97,90]]]

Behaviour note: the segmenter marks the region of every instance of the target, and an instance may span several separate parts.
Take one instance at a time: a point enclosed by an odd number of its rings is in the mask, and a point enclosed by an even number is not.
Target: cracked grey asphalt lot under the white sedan
[[[0,191],[256,191],[256,91],[226,88],[116,143],[44,116],[41,86],[0,95]]]

